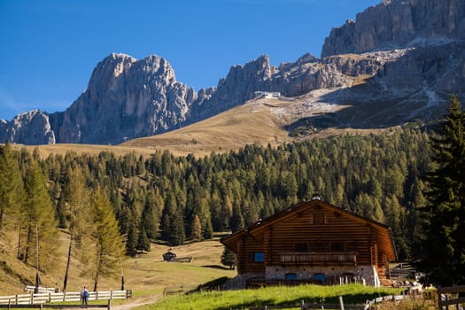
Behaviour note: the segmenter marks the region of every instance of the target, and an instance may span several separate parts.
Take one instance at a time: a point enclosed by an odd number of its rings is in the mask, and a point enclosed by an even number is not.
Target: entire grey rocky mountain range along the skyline
[[[275,67],[260,56],[198,93],[176,81],[164,58],[112,54],[66,112],[0,121],[0,142],[120,143],[204,120],[258,90],[312,92],[314,101],[351,106],[323,120],[328,126],[378,128],[437,119],[451,93],[465,92],[464,80],[465,2],[384,0],[334,28],[322,58]]]

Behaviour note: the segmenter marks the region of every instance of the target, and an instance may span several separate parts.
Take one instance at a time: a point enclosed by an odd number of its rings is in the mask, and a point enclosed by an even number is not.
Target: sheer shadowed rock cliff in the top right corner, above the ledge
[[[465,39],[463,0],[384,0],[333,28],[322,57]]]

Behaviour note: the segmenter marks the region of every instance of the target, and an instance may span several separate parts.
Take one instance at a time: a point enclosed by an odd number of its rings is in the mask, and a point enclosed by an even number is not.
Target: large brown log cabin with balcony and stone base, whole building
[[[389,277],[389,261],[397,260],[389,227],[320,198],[293,205],[221,243],[236,253],[235,288],[356,280],[379,286]]]

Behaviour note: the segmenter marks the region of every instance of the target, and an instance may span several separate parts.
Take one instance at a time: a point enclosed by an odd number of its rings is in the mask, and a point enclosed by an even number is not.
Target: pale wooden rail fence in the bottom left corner
[[[89,291],[88,300],[111,300],[131,298],[132,291]],[[81,292],[48,292],[0,296],[0,305],[40,305],[45,303],[81,301]]]

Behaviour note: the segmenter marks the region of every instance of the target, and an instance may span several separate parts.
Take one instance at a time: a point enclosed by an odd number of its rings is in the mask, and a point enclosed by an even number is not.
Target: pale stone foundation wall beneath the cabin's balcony
[[[327,282],[345,283],[350,279],[344,274],[353,274],[353,277],[367,285],[380,285],[379,277],[373,266],[268,266],[266,269],[267,280],[284,280],[287,274],[295,274],[295,280],[314,280],[315,274],[324,274]]]

